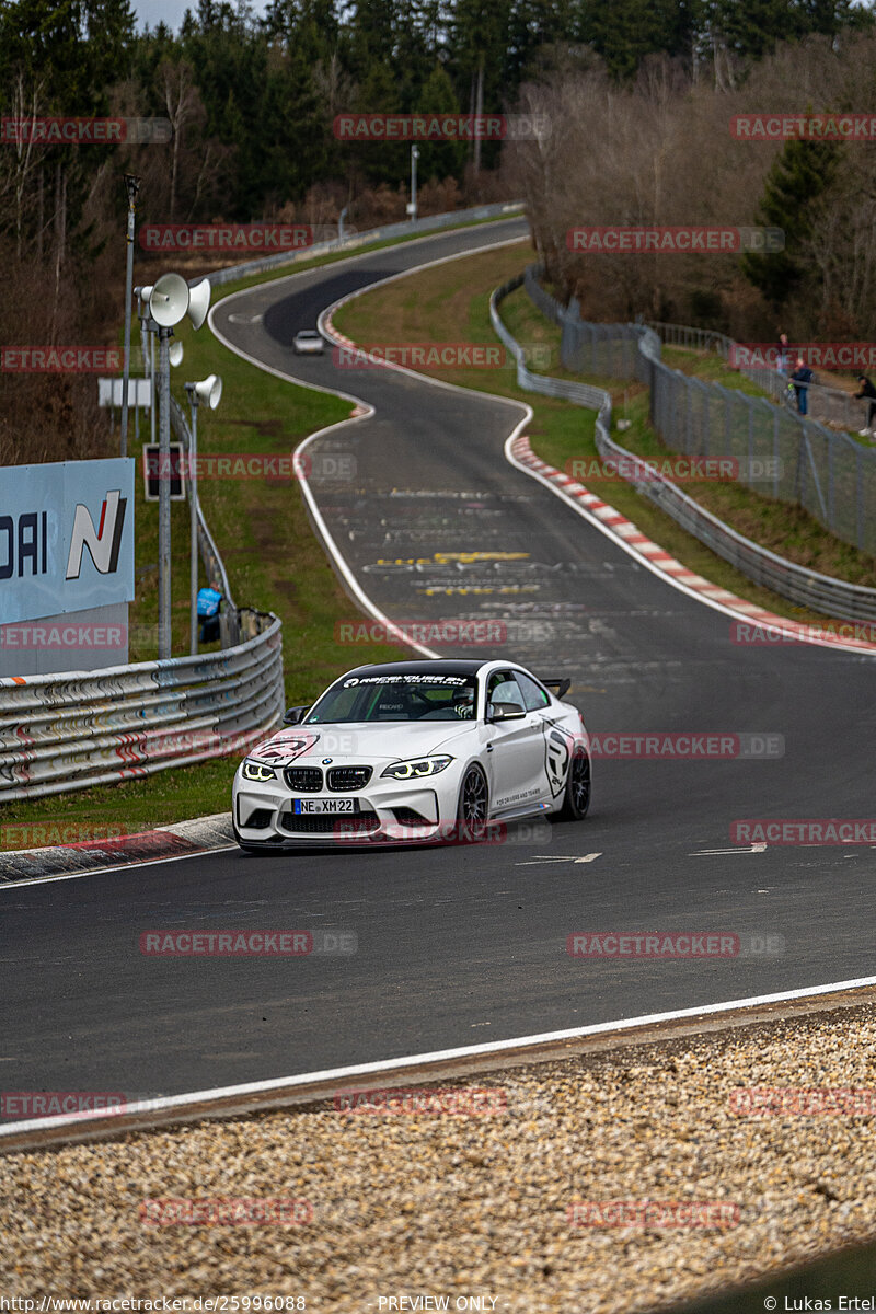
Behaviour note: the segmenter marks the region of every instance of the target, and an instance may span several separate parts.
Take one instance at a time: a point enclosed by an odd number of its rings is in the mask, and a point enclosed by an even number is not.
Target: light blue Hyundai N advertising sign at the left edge
[[[0,472],[0,624],[133,598],[133,459]]]

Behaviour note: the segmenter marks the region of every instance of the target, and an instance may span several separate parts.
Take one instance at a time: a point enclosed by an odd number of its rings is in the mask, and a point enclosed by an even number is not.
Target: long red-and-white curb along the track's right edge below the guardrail
[[[625,515],[613,506],[609,506],[608,502],[603,502],[600,497],[591,493],[583,484],[579,484],[570,474],[558,470],[556,465],[548,465],[546,461],[537,457],[525,434],[511,439],[506,451],[512,465],[533,473],[536,478],[548,485],[558,497],[574,506],[580,515],[595,523],[608,537],[615,539],[629,556],[638,558],[654,574],[662,576],[667,583],[682,589],[682,591],[691,597],[699,598],[707,606],[725,612],[734,620],[746,622],[753,628],[770,631],[772,636],[784,636],[791,641],[817,644],[823,648],[842,648],[846,652],[876,654],[875,641],[842,633],[843,628],[855,628],[852,622],[838,623],[839,632],[834,633],[829,629],[821,629],[817,625],[779,616],[774,611],[767,611],[754,602],[746,602],[728,589],[721,589],[709,579],[704,579],[703,576],[696,574],[696,572],[690,570],[680,561],[676,561],[659,544],[653,543],[647,535],[642,533],[638,526],[628,520]],[[867,628],[871,627],[868,625]],[[738,641],[742,644],[746,640],[739,639]],[[774,640],[770,636],[762,636],[758,640],[749,639],[747,641],[770,644]]]

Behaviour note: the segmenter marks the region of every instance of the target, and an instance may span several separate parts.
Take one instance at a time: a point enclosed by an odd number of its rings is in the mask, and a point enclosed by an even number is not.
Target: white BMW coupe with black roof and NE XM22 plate
[[[235,838],[253,850],[423,844],[532,815],[579,820],[590,738],[561,702],[569,683],[507,661],[357,666],[250,750],[234,778]]]

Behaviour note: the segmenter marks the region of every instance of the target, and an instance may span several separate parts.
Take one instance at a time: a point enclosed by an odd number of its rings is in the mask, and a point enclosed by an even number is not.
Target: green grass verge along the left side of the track
[[[474,221],[475,227],[491,221]],[[444,230],[443,230],[444,231]],[[398,246],[418,235],[368,246]],[[419,235],[422,237],[422,234]],[[359,250],[359,248],[357,248]],[[297,273],[335,264],[356,252],[338,252],[292,265]],[[217,289],[214,304],[234,292],[284,276],[286,271],[252,275]],[[326,393],[284,382],[240,360],[204,327],[193,332],[188,321],[177,336],[184,344],[183,364],[171,372],[173,396],[188,414],[183,382],[217,373],[223,380],[217,411],[198,413],[198,451],[204,453],[261,453],[289,456],[314,430],[347,419],[349,403]],[[134,357],[137,359],[137,356]],[[142,417],[141,417],[142,419]],[[148,420],[141,423],[139,443],[148,440]],[[158,653],[158,503],[143,498],[141,451],[134,443],[133,418],[129,452],[137,461],[135,477],[135,600],[130,607],[134,636],[130,661],[150,661]],[[341,589],[322,544],[311,530],[301,487],[296,480],[202,480],[198,493],[213,537],[225,560],[238,606],[273,611],[282,619],[286,703],[307,703],[330,681],[362,661],[393,661],[405,649],[389,644],[362,644],[351,649],[335,639],[339,622],[357,616]],[[172,635],[173,656],[189,650],[189,505],[172,503]],[[201,583],[208,581],[201,568]],[[201,650],[215,650],[218,644]],[[185,817],[227,812],[236,758],[211,759],[189,767],[158,771],[120,784],[74,790],[63,795],[0,805],[0,849],[4,825],[75,824],[81,838],[89,830],[120,833],[169,825]],[[7,837],[9,840],[11,837]],[[26,846],[28,841],[14,842]]]

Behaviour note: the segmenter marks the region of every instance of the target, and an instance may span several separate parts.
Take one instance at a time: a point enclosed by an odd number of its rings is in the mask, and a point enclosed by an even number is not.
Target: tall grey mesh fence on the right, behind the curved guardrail
[[[670,369],[654,328],[583,321],[575,301],[563,309],[538,288],[536,267],[525,285],[562,325],[567,369],[647,384],[651,423],[668,448],[733,460],[739,482],[804,507],[838,539],[876,555],[876,451],[763,397]]]

